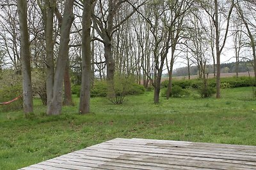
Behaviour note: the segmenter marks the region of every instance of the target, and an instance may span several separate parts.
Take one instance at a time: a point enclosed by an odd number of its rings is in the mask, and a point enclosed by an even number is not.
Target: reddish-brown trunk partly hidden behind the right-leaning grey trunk
[[[64,99],[63,99],[64,106],[74,106],[72,101],[72,92],[71,92],[71,82],[70,82],[70,74],[69,74],[69,60],[67,59],[67,64],[65,67],[65,74],[64,74]]]

